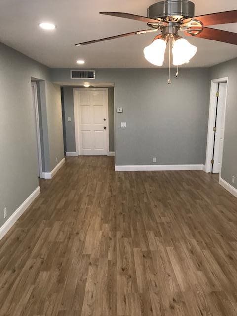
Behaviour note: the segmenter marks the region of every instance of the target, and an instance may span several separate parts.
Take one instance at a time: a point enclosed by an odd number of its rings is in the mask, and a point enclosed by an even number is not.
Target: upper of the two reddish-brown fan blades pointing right
[[[204,26],[226,24],[226,23],[236,23],[237,10],[195,16],[192,19],[201,21]],[[189,21],[190,21],[190,18],[184,20],[183,23],[187,23]]]

